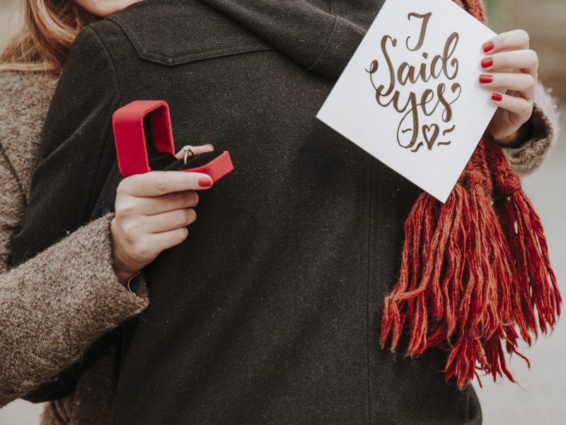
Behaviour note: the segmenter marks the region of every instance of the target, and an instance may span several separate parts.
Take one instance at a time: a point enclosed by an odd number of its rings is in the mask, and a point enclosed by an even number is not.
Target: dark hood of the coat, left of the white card
[[[336,79],[385,0],[199,0],[311,72]]]

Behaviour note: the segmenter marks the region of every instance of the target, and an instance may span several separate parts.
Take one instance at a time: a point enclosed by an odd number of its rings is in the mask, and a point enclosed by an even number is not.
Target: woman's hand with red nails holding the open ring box
[[[191,147],[195,154],[213,149]],[[183,152],[177,157],[181,159]],[[161,251],[187,238],[187,226],[196,220],[196,191],[211,186],[207,174],[185,171],[151,171],[120,182],[110,232],[112,266],[122,284]]]

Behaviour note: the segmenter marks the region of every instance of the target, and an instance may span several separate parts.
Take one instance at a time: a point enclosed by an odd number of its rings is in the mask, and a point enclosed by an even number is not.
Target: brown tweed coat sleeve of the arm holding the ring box
[[[112,270],[107,214],[7,270],[8,237],[23,194],[0,151],[0,407],[83,359],[96,339],[148,305],[141,276],[129,291]]]

